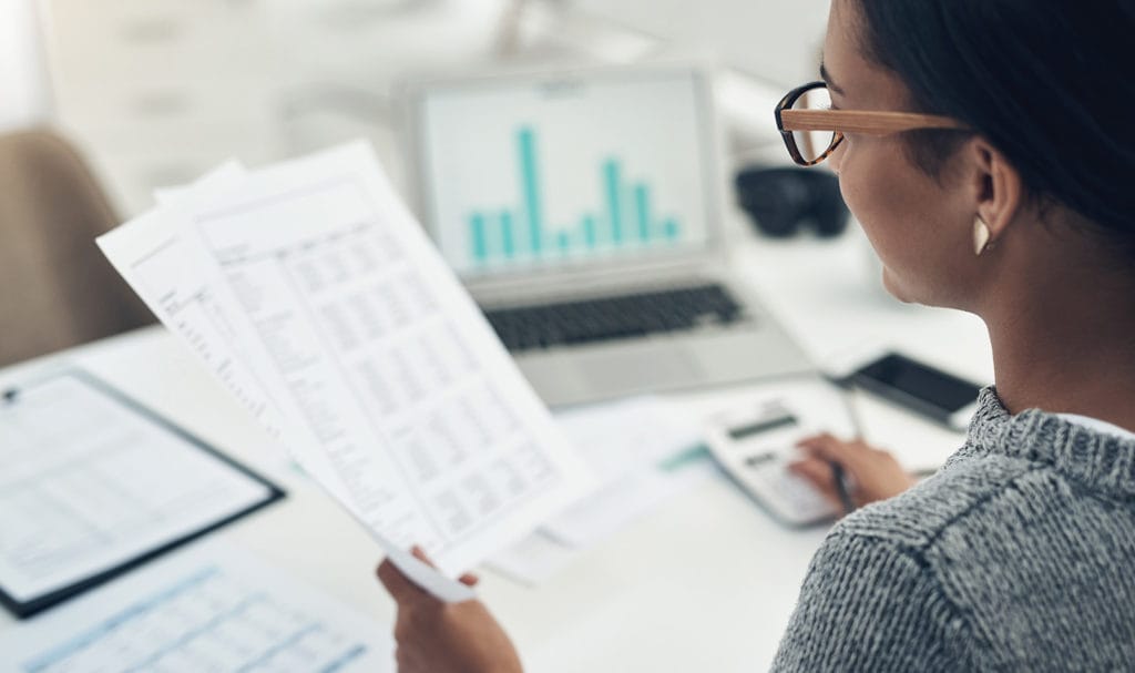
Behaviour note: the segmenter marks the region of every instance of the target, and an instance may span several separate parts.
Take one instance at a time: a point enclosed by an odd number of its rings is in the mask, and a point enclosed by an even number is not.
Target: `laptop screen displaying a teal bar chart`
[[[709,243],[713,128],[692,69],[435,85],[423,205],[463,277],[688,254]]]

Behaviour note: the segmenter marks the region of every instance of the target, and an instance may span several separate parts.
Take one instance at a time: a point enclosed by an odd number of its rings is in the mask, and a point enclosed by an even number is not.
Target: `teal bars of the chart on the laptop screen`
[[[470,252],[478,263],[679,241],[681,225],[678,219],[657,212],[651,185],[632,179],[624,162],[616,157],[604,159],[595,170],[602,203],[579,213],[566,226],[549,222],[544,208],[545,185],[537,132],[531,126],[519,127],[515,140],[522,203],[499,210],[474,210],[469,214]]]

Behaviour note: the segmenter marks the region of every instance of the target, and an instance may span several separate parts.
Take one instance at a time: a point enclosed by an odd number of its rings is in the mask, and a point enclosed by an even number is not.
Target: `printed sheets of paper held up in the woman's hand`
[[[424,588],[470,597],[412,544],[453,578],[588,489],[367,146],[228,165],[161,201],[103,252]]]

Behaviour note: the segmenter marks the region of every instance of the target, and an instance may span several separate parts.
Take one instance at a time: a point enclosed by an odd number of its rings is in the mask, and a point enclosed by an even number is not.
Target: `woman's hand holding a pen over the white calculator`
[[[839,489],[832,463],[843,468],[850,479],[849,495],[856,506],[899,495],[917,480],[899,465],[894,456],[861,440],[842,441],[831,435],[818,435],[797,445],[804,457],[790,469],[816,485],[816,488],[840,507]]]

